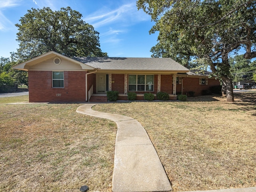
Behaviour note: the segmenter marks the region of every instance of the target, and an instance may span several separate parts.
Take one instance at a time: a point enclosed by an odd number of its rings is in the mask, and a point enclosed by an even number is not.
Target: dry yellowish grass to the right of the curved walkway
[[[208,96],[94,110],[130,116],[144,126],[174,191],[240,188],[256,186],[255,98],[241,93],[234,103]]]

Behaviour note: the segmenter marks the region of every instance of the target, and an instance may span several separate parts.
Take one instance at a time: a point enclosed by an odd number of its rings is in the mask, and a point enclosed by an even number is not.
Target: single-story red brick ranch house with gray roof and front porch
[[[170,100],[176,93],[195,96],[211,86],[215,78],[198,75],[171,58],[69,58],[54,51],[13,66],[28,71],[29,102],[100,102],[106,92],[117,90],[118,100],[128,100],[128,92],[167,92]]]

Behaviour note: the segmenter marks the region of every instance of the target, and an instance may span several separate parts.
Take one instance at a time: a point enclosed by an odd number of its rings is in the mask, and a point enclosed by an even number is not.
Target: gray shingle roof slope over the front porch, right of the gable
[[[72,59],[100,70],[189,71],[171,58],[73,57]]]

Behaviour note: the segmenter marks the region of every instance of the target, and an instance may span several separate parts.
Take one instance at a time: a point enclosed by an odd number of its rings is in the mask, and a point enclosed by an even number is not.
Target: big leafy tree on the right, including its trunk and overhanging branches
[[[210,66],[226,86],[228,101],[234,101],[229,54],[244,48],[244,58],[256,57],[255,6],[255,0],[137,1],[155,22],[150,33],[159,31],[158,54],[194,57]]]

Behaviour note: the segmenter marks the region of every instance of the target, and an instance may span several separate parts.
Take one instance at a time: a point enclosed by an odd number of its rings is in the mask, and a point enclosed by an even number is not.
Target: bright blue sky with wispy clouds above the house
[[[0,0],[0,57],[16,52],[20,18],[31,8],[60,10],[70,6],[100,33],[100,48],[110,57],[150,57],[158,34],[150,16],[137,9],[136,0]]]

